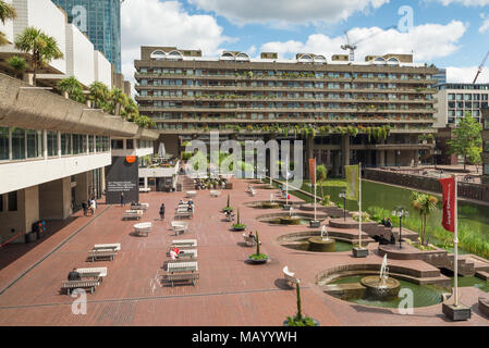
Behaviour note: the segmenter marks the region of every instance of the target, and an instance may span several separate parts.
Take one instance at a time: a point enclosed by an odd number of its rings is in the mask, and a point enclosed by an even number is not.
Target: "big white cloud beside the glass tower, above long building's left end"
[[[134,60],[140,46],[178,46],[217,54],[232,41],[211,15],[191,15],[179,1],[130,0],[122,4],[122,73],[134,83]]]

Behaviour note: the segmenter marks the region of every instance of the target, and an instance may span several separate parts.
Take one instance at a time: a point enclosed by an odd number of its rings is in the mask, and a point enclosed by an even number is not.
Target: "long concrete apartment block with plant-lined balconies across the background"
[[[198,50],[142,47],[134,64],[140,113],[157,123],[171,153],[179,153],[182,140],[211,129],[221,137],[267,139],[294,138],[296,126],[308,126],[317,132],[307,137],[305,158],[315,156],[335,174],[357,162],[417,165],[423,156],[431,161],[433,146],[418,136],[435,132],[438,69],[413,63],[411,54],[352,63],[342,54],[209,58]],[[350,136],[338,126],[359,134]],[[374,139],[368,127],[389,128],[390,135]]]

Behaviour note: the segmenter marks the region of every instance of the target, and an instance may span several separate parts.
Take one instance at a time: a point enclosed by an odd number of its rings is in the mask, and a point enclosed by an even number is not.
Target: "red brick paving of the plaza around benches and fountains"
[[[315,284],[320,271],[343,263],[380,264],[381,258],[371,254],[366,260],[354,259],[350,252],[325,254],[281,247],[277,243],[279,236],[308,227],[271,226],[256,221],[254,216],[277,211],[246,207],[246,202],[270,197],[270,190],[265,189],[257,189],[257,196],[250,197],[245,192],[247,185],[246,182],[234,182],[235,188],[230,191],[231,206],[240,208],[248,231],[260,232],[261,250],[271,258],[268,264],[245,263],[255,248],[244,247],[242,233],[229,231],[231,223],[221,221],[223,214],[219,211],[225,206],[228,191],[222,191],[219,198],[211,198],[209,191],[199,191],[194,199],[196,213],[191,221],[191,232],[180,237],[172,235],[170,222],[184,194],[145,194],[140,199],[150,207],[142,222],[154,222],[154,232],[148,237],[134,236],[135,222],[121,220],[126,208],[112,206],[103,211],[105,206],[100,206],[98,219],[80,216],[2,269],[0,285],[4,288],[90,222],[0,296],[0,325],[281,325],[285,316],[296,311],[295,290],[283,287],[284,265],[289,265],[302,279],[304,312],[319,320],[321,325],[489,324],[476,308],[470,321],[451,323],[441,314],[441,304],[415,309],[415,315],[400,315],[394,310],[352,304],[323,294]],[[158,215],[161,202],[167,207],[164,221],[159,221]],[[168,246],[178,238],[198,240],[200,279],[195,287],[171,288],[160,284]],[[114,261],[85,262],[94,244],[103,243],[121,243],[122,249]],[[432,270],[424,262],[409,262],[413,268]],[[392,260],[391,263],[406,264],[406,261]],[[72,314],[73,298],[60,295],[61,282],[74,266],[108,268],[103,283],[95,294],[87,295],[86,315]],[[473,306],[485,293],[462,288],[461,294],[462,302]]]

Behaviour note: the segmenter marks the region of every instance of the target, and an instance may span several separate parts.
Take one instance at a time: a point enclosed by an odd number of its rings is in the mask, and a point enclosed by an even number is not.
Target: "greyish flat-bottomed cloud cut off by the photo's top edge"
[[[274,26],[337,23],[355,12],[378,9],[390,0],[188,0],[237,25],[265,23]]]

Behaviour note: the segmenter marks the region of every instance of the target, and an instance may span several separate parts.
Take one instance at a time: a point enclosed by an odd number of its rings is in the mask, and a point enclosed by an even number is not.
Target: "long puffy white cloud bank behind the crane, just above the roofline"
[[[355,60],[364,60],[365,55],[380,55],[384,53],[411,53],[414,51],[416,61],[425,62],[450,55],[460,46],[457,42],[464,35],[466,26],[462,22],[452,21],[447,25],[426,24],[414,27],[408,33],[395,29],[383,30],[378,27],[353,28],[349,32],[352,42],[359,42],[355,52]],[[327,58],[346,51],[341,50],[345,44],[344,36],[330,38],[322,34],[310,35],[305,42],[267,42],[261,51],[278,52],[281,57],[295,53],[321,53]]]

